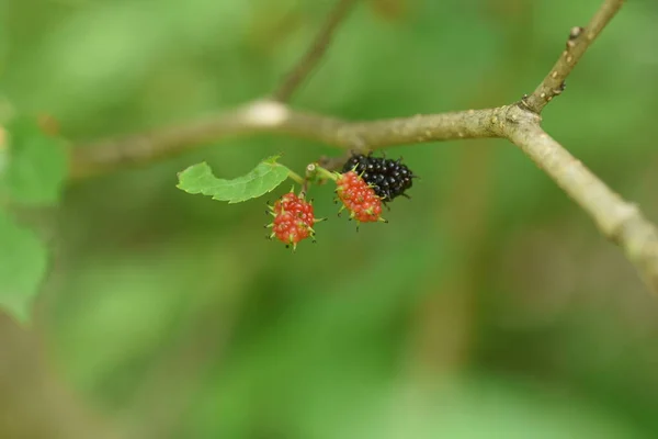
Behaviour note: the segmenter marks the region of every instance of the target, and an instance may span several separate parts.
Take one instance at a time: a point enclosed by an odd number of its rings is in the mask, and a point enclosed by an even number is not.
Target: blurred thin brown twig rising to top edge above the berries
[[[299,59],[293,70],[285,77],[279,89],[272,94],[272,99],[280,102],[287,102],[291,95],[299,87],[314,67],[320,61],[340,23],[348,16],[351,8],[358,0],[338,0],[333,10],[327,18],[322,29],[317,34],[308,50]]]

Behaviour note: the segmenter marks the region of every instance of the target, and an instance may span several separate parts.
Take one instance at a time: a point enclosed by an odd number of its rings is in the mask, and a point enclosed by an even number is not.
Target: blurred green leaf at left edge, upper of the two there
[[[67,171],[63,142],[46,135],[31,117],[11,121],[7,131],[8,162],[0,170],[0,188],[19,203],[55,204]]]

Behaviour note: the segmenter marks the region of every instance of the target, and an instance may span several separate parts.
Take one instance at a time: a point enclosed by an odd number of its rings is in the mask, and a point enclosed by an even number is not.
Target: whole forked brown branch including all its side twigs
[[[275,99],[259,100],[227,113],[72,149],[71,178],[183,153],[228,136],[275,133],[309,138],[351,150],[461,138],[507,138],[530,157],[617,244],[658,293],[658,232],[639,209],[623,200],[541,127],[540,113],[564,89],[564,81],[624,0],[604,0],[585,29],[575,27],[554,68],[521,102],[494,109],[416,115],[370,122],[300,112],[283,103],[325,52],[330,35],[355,0],[340,0],[311,48]]]

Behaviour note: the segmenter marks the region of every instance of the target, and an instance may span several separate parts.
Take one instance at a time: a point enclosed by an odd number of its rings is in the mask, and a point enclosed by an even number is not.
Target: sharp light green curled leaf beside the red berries
[[[188,193],[202,193],[213,200],[240,203],[264,195],[288,177],[288,168],[276,162],[279,157],[261,161],[251,172],[234,180],[218,179],[204,161],[179,172],[177,188]]]

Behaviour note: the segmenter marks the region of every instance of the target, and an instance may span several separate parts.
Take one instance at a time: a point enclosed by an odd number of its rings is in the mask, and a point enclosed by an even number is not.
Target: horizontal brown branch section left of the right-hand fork
[[[72,150],[70,177],[80,179],[126,166],[149,164],[229,136],[287,134],[344,149],[458,138],[496,137],[491,117],[501,109],[417,115],[373,122],[347,122],[304,113],[275,101],[256,101],[235,111],[150,133],[81,145]]]

